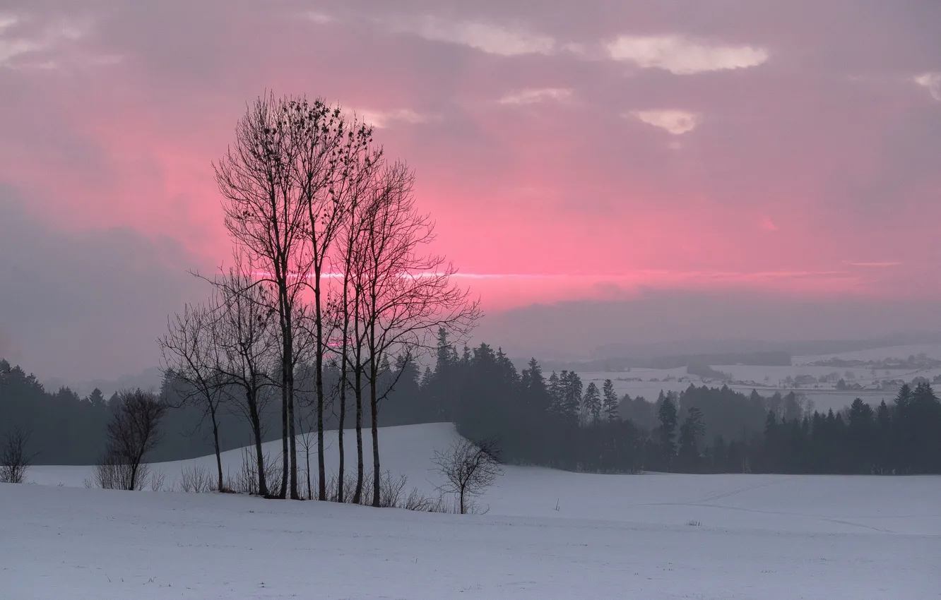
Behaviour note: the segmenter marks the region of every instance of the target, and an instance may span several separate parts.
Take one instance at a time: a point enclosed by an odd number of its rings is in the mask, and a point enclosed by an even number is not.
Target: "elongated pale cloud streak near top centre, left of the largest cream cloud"
[[[382,24],[395,33],[467,46],[491,55],[549,55],[555,49],[555,39],[550,36],[481,21],[450,21],[425,15],[387,19]]]

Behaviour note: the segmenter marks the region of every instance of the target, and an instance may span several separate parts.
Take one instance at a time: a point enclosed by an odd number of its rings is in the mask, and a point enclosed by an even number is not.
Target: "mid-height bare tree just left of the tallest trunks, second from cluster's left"
[[[263,497],[270,496],[263,441],[263,413],[275,391],[267,368],[275,362],[279,341],[275,335],[276,310],[264,285],[256,285],[250,276],[251,264],[240,254],[235,266],[214,280],[217,311],[215,322],[218,362],[215,370],[226,382],[228,403],[248,421],[255,447],[256,489]]]

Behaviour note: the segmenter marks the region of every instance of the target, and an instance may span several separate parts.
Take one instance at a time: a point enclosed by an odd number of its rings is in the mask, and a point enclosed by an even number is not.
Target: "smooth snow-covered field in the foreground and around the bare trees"
[[[396,427],[380,443],[430,489],[454,435]],[[941,597],[939,477],[507,467],[490,512],[460,516],[69,487],[87,476],[0,484],[0,598]]]

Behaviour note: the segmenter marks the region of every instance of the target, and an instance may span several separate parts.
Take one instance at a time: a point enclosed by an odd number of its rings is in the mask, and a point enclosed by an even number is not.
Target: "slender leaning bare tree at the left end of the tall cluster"
[[[226,397],[219,364],[215,307],[186,305],[183,314],[167,319],[167,333],[157,340],[161,367],[182,404],[202,408],[203,418],[209,417],[213,427],[213,449],[217,485],[225,490],[222,477],[222,456],[219,448],[219,414]]]

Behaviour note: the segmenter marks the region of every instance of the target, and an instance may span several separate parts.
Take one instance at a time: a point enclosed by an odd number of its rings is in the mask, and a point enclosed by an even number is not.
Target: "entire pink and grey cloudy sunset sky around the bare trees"
[[[116,377],[230,256],[212,162],[272,90],[415,169],[477,333],[941,329],[935,0],[4,0],[0,355]],[[857,335],[858,334],[858,335]]]

